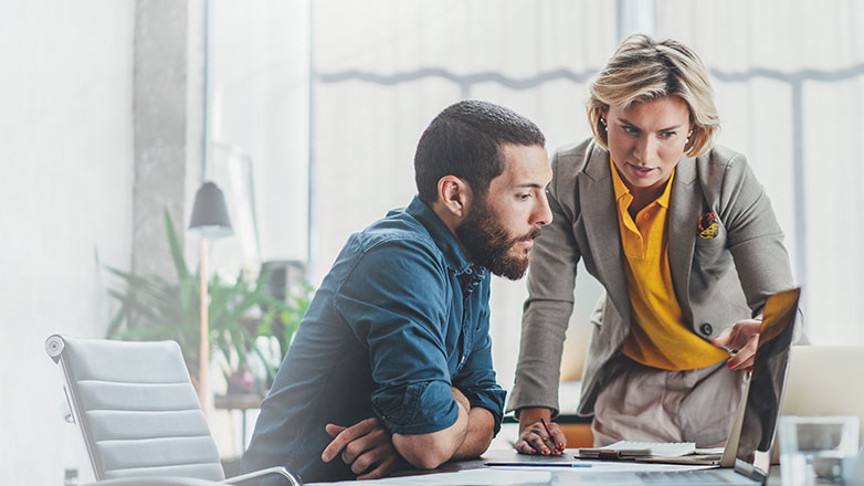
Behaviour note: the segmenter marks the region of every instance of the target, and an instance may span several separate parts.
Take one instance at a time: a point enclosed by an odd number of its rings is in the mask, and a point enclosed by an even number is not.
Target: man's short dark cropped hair
[[[438,200],[438,181],[455,176],[485,197],[489,182],[504,172],[502,144],[545,146],[546,138],[528,118],[503,106],[475,99],[441,112],[423,131],[414,154],[420,199]]]

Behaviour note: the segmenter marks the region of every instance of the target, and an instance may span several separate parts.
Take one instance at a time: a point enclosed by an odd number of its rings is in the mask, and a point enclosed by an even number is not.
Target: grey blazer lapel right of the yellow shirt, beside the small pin
[[[682,156],[675,169],[666,228],[672,284],[685,316],[693,315],[689,305],[689,275],[703,205],[702,186],[696,178],[696,160]]]

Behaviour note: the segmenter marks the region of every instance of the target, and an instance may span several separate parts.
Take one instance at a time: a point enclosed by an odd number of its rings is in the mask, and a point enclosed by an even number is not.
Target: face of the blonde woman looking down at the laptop
[[[656,196],[678,165],[691,133],[689,108],[677,96],[639,102],[603,114],[607,142],[618,173],[633,196]]]

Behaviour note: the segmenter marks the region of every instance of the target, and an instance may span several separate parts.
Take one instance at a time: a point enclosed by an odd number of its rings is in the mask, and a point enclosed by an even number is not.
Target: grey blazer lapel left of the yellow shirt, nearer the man
[[[609,297],[629,326],[630,295],[624,277],[621,233],[609,163],[609,152],[593,146],[583,177],[579,178],[579,203],[598,279],[605,283]]]

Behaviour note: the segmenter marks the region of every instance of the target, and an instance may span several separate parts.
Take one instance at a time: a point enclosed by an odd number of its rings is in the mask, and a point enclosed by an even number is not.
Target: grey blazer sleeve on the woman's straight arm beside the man
[[[576,268],[580,260],[573,237],[575,211],[565,201],[576,201],[576,180],[561,178],[560,152],[552,156],[552,183],[547,191],[552,221],[542,229],[530,252],[528,299],[521,321],[516,383],[507,411],[544,406],[558,414],[558,382],[565,332],[573,310]]]

